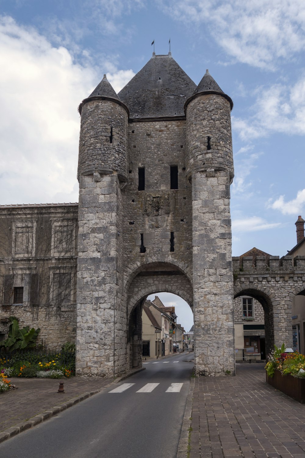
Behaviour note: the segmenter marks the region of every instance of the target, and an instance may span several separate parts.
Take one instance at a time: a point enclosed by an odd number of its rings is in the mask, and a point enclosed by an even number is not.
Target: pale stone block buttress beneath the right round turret
[[[208,175],[192,175],[195,371],[220,376],[235,373],[229,178]]]

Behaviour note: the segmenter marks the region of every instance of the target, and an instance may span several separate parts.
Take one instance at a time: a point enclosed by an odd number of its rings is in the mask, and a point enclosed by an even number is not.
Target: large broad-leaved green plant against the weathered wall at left
[[[9,319],[11,324],[8,338],[0,341],[0,347],[5,347],[9,351],[35,347],[40,328],[35,330],[33,327],[30,329],[29,326],[25,326],[20,329],[15,316],[10,316]]]

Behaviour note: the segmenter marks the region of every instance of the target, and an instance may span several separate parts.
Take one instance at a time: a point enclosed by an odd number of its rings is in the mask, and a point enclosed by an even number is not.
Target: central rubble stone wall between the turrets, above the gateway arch
[[[169,262],[192,275],[192,196],[185,179],[185,129],[183,120],[128,125],[129,184],[123,197],[125,284],[135,263]],[[171,165],[178,168],[178,189],[171,189]],[[138,191],[139,167],[145,168],[144,191]],[[171,232],[174,251],[170,251]],[[140,253],[140,234],[144,253]]]

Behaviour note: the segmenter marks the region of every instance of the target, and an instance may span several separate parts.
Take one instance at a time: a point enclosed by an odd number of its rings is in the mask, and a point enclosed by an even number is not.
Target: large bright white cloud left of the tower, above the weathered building
[[[0,16],[0,68],[0,203],[77,201],[77,106],[102,75],[7,16]],[[131,76],[112,66],[116,91]]]

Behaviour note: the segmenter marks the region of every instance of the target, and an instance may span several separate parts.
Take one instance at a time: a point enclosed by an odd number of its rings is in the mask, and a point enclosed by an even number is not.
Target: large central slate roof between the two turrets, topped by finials
[[[118,93],[130,118],[184,116],[183,105],[196,84],[168,55],[155,55]]]

